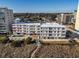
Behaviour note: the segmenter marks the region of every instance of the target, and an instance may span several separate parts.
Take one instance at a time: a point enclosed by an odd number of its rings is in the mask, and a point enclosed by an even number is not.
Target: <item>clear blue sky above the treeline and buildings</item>
[[[1,7],[8,7],[17,13],[73,12],[77,4],[78,0],[0,0]]]

